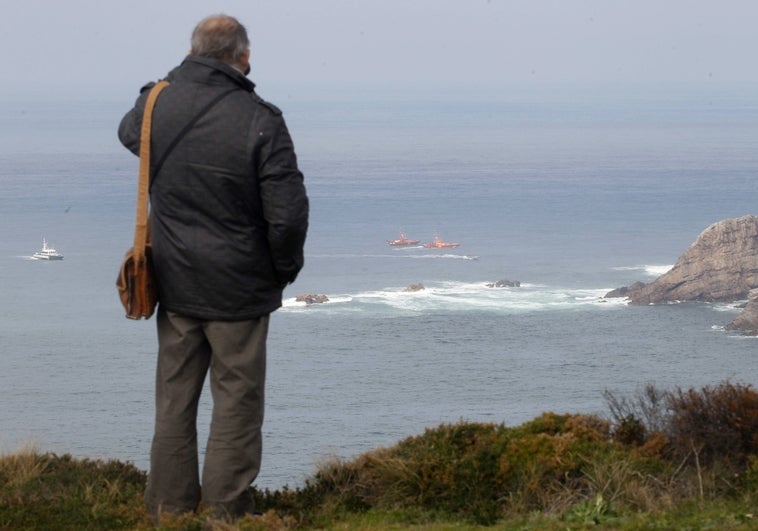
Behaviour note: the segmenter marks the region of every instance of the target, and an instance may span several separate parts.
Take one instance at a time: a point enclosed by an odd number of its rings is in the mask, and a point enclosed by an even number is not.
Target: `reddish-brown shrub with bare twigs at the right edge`
[[[758,393],[750,385],[726,381],[673,391],[647,386],[634,399],[604,394],[614,440],[632,445],[641,458],[668,461],[668,472],[651,473],[674,499],[735,492],[740,482],[756,481]]]

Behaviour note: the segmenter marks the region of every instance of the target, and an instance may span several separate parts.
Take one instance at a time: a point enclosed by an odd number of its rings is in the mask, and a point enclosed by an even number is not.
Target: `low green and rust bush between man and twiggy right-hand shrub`
[[[516,428],[461,421],[332,461],[299,494],[332,510],[436,511],[488,525],[507,513],[557,511],[601,490],[613,500],[616,493],[593,486],[583,467],[606,461],[614,444],[610,423],[591,415],[544,413]],[[640,468],[621,457],[628,469]]]

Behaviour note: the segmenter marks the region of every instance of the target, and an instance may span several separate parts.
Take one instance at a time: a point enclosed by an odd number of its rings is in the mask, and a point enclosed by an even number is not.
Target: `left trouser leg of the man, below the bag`
[[[161,512],[194,511],[200,501],[197,405],[210,362],[202,322],[158,309],[155,434],[145,502]]]

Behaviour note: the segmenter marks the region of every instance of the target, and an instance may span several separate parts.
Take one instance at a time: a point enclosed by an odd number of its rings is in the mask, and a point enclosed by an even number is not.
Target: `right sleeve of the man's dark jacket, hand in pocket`
[[[303,267],[308,230],[308,196],[294,146],[281,114],[271,117],[259,150],[258,175],[263,216],[277,280],[293,282]]]

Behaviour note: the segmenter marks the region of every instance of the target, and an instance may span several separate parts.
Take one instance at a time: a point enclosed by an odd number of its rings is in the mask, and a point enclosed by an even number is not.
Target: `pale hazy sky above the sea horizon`
[[[204,16],[260,86],[756,84],[755,0],[2,0],[0,95],[133,94]]]

